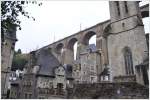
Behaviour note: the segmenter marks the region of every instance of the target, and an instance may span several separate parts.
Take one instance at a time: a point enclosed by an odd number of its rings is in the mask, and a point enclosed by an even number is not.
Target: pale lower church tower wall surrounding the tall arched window
[[[125,62],[123,48],[129,47],[132,52],[133,70],[135,66],[142,63],[144,52],[147,51],[143,26],[134,30],[108,36],[108,55],[112,77],[125,75]]]

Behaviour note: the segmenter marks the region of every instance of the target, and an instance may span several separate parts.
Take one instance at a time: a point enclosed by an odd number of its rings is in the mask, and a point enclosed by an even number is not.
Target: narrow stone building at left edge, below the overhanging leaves
[[[10,35],[11,34],[11,35]],[[14,54],[16,39],[16,30],[10,30],[4,34],[2,42],[2,64],[1,64],[1,97],[6,98],[9,85],[9,76]]]

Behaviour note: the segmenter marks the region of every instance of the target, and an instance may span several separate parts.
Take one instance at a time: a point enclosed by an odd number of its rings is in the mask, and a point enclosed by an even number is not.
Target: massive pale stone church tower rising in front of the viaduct
[[[110,1],[109,8],[107,45],[112,80],[127,81],[128,77],[143,84],[135,67],[143,62],[148,50],[139,2]]]

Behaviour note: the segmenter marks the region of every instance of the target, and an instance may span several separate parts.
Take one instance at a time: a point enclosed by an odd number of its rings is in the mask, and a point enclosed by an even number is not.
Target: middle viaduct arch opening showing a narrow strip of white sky
[[[76,60],[77,55],[77,42],[78,40],[76,38],[72,38],[69,40],[67,48],[70,50],[70,56],[72,60]]]

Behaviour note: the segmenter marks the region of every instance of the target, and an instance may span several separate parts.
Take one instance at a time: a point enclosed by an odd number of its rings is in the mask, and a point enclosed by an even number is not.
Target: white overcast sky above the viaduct
[[[54,41],[110,19],[108,1],[42,1],[42,6],[28,5],[25,9],[35,18],[20,16],[21,31],[17,31],[15,49],[23,53],[46,46]],[[145,3],[144,3],[145,4]],[[149,18],[144,19],[146,33]]]

